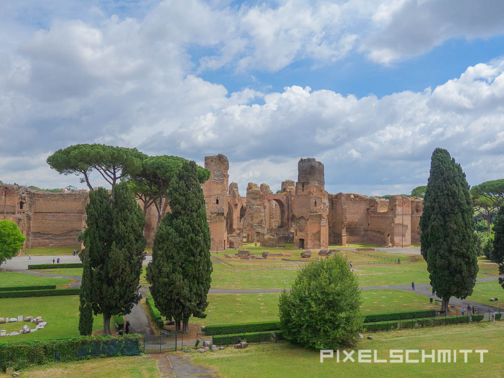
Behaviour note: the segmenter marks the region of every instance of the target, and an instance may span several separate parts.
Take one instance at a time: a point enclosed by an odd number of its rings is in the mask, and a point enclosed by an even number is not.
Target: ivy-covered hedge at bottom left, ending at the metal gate
[[[96,355],[112,352],[119,354],[138,354],[138,341],[141,335],[124,335],[120,338],[112,336],[80,336],[69,339],[39,339],[18,342],[0,341],[0,371],[6,367],[15,370],[23,369],[32,365],[43,365],[53,362],[55,359],[61,362],[77,360],[77,352],[80,354]],[[129,348],[133,341],[137,342],[136,353]],[[115,348],[108,348],[110,345]],[[115,344],[115,345],[114,345]],[[86,351],[83,353],[82,348]]]

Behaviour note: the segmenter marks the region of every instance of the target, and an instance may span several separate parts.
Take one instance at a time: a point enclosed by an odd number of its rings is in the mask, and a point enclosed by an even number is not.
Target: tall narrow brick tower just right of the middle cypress
[[[229,162],[222,154],[205,156],[205,168],[210,178],[203,184],[205,208],[210,226],[212,245],[210,250],[225,250],[227,247],[226,213]]]

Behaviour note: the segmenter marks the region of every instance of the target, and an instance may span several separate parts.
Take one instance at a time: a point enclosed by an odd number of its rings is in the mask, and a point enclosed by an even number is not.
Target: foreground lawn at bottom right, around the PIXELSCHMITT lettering
[[[491,335],[491,337],[489,337]],[[222,378],[279,376],[371,376],[371,377],[502,377],[504,322],[435,327],[373,334],[373,340],[362,340],[359,349],[376,350],[377,358],[388,359],[390,349],[485,349],[484,363],[479,354],[457,354],[456,363],[338,363],[336,358],[320,362],[319,351],[310,351],[289,343],[251,345],[245,349],[226,348],[213,353],[192,356],[198,364],[211,366]],[[342,353],[343,355],[343,353]],[[344,355],[343,355],[344,356]],[[353,355],[356,358],[356,354]],[[411,354],[410,358],[418,358]],[[436,356],[437,358],[437,356]]]

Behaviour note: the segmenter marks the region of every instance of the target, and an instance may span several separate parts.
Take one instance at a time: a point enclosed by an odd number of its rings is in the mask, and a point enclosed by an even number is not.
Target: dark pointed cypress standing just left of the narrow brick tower
[[[205,318],[212,262],[210,229],[194,161],[184,161],[170,183],[171,212],[163,218],[154,237],[147,281],[156,307],[174,318],[177,332],[188,333],[191,316]]]

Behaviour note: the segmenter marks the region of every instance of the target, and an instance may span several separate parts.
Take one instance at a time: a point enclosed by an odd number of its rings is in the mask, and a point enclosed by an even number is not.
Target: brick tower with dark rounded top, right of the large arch
[[[303,249],[329,245],[329,195],[324,188],[324,164],[313,158],[300,159],[291,216],[294,246]]]

